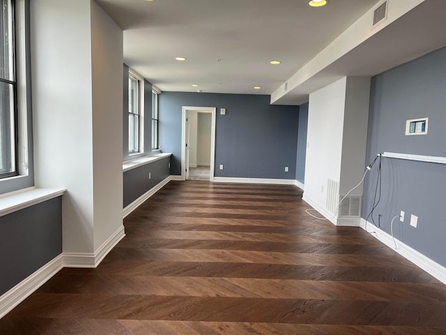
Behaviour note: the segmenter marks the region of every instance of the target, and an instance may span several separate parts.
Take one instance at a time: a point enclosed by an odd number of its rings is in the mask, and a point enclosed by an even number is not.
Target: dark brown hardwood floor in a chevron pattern
[[[446,285],[294,186],[171,181],[97,269],[63,269],[0,334],[446,334]]]

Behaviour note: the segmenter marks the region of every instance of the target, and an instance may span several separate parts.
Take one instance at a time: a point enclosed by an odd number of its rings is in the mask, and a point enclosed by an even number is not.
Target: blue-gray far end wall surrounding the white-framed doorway
[[[217,107],[215,177],[295,179],[299,107],[270,105],[270,96],[245,94],[161,94],[160,144],[173,154],[171,174],[181,174],[183,106]]]

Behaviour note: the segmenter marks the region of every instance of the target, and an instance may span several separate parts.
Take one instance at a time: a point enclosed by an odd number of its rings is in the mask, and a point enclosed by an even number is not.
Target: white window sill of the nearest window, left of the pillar
[[[0,216],[20,211],[26,207],[57,198],[66,192],[65,188],[24,188],[20,191],[5,193],[0,196]]]

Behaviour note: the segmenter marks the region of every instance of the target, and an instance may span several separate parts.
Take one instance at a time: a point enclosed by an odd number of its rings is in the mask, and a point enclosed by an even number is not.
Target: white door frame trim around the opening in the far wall
[[[217,107],[192,107],[183,106],[182,118],[181,118],[181,180],[186,180],[186,161],[187,161],[187,135],[188,125],[186,122],[187,111],[198,110],[203,112],[210,112],[212,115],[212,121],[210,125],[210,181],[214,181],[215,172],[215,117],[217,115]]]

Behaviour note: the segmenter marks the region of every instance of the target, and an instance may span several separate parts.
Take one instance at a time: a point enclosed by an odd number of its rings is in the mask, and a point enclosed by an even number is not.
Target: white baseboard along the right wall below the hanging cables
[[[366,229],[366,221],[363,218],[361,219],[360,226],[362,229]],[[442,265],[439,265],[437,262],[431,260],[415,249],[410,248],[410,246],[404,244],[398,239],[395,239],[395,241],[397,242],[397,249],[395,249],[392,235],[387,234],[387,232],[381,230],[380,228],[377,228],[376,225],[374,225],[373,223],[367,222],[366,231],[369,233],[375,232],[375,234],[371,235],[376,237],[376,239],[379,239],[381,242],[383,242],[383,244],[397,251],[397,253],[403,256],[403,258],[410,260],[410,262],[413,262],[413,264],[417,265],[417,267],[420,267],[431,276],[446,284],[446,268]]]

